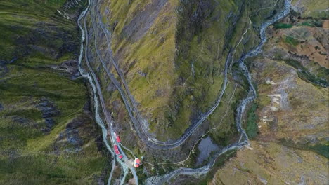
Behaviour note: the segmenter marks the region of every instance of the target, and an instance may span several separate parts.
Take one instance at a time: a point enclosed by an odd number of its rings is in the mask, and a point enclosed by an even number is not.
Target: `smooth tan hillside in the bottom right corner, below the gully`
[[[323,156],[273,142],[251,142],[228,160],[208,184],[327,184]]]

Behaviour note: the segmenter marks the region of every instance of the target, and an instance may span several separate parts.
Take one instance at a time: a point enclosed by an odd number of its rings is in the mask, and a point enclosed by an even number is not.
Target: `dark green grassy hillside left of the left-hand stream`
[[[75,79],[84,3],[0,1],[0,184],[102,180],[107,160]]]

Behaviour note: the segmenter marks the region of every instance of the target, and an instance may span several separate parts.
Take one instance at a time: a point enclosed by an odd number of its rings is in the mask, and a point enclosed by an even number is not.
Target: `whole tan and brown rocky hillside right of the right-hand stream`
[[[258,94],[245,121],[251,148],[208,184],[328,184],[328,16],[306,18],[319,4],[294,1],[297,12],[267,30],[264,52],[249,60]]]

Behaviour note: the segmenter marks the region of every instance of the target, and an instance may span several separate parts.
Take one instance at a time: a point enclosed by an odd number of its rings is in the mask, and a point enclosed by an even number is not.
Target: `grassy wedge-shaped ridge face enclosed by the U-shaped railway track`
[[[235,25],[238,24],[234,24],[239,20],[236,16],[240,16],[239,7],[242,4],[237,1],[221,4],[217,1],[181,1],[179,4],[170,1],[168,7],[157,15],[148,34],[131,39],[137,36],[131,33],[130,22],[138,17],[136,14],[147,16],[149,11],[138,11],[153,3],[110,3],[113,15],[111,25],[117,22],[112,48],[117,55],[126,56],[121,57],[120,62],[123,66],[129,66],[126,80],[132,95],[140,103],[139,109],[151,116],[150,131],[155,132],[158,139],[174,139],[180,137],[217,100],[224,80],[222,71],[227,46],[231,42],[235,44],[245,29],[245,24],[237,28]],[[180,10],[178,14],[177,8]],[[198,14],[197,18],[193,18],[193,13]],[[231,13],[232,16],[228,16]],[[174,19],[177,15],[178,20]],[[144,18],[141,17],[142,20]],[[138,70],[147,75],[138,75]],[[147,96],[145,92],[148,92]],[[111,98],[115,99],[117,97]]]

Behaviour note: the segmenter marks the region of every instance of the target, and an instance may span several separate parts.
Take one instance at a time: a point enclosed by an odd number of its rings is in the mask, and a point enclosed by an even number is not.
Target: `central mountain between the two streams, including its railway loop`
[[[112,129],[120,134],[122,146],[148,164],[137,170],[143,173],[141,182],[181,166],[205,165],[214,153],[195,163],[199,158],[195,146],[206,135],[219,149],[240,140],[236,109],[249,87],[234,62],[257,46],[260,25],[276,16],[283,3],[91,4],[83,22],[86,58],[113,118]],[[202,124],[185,137],[195,123]],[[182,144],[172,148],[148,145],[181,142],[181,138]]]

